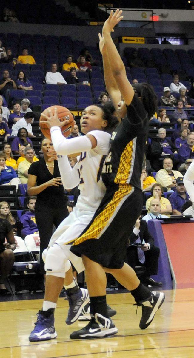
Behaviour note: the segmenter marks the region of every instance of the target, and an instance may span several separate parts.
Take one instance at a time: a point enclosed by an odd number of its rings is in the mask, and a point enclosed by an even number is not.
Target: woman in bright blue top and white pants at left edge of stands
[[[12,166],[6,166],[6,155],[4,152],[0,152],[0,185],[15,185],[18,189],[18,185],[21,184],[15,170]]]

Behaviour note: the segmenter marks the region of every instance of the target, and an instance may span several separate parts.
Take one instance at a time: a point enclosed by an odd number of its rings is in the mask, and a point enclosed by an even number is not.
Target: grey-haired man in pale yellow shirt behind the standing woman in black
[[[25,147],[25,159],[18,165],[18,178],[20,179],[21,184],[28,183],[28,169],[30,168],[31,163],[33,163],[34,154],[35,152],[33,148]]]

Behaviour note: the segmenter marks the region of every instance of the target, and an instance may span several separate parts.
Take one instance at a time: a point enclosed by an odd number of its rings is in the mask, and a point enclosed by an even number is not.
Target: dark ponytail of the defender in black
[[[154,88],[147,83],[141,83],[141,100],[150,119],[157,112],[157,96]]]

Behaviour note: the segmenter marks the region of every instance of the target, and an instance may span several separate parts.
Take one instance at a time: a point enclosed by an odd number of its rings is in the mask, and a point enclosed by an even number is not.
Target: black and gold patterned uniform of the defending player
[[[128,235],[141,214],[141,171],[148,133],[147,112],[135,95],[127,115],[112,133],[111,149],[102,169],[106,194],[92,221],[71,251],[104,267],[123,266]]]

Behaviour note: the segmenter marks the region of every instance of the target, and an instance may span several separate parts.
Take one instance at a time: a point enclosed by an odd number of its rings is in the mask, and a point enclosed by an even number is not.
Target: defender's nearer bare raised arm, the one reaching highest
[[[127,79],[125,66],[111,38],[111,32],[114,27],[123,19],[121,14],[122,10],[117,9],[115,13],[111,10],[109,18],[104,23],[102,35],[105,39],[106,51],[110,63],[110,71],[115,78],[118,89],[120,90],[126,105],[128,106],[134,97],[134,89]]]

